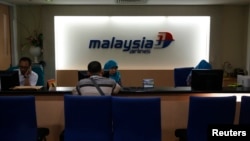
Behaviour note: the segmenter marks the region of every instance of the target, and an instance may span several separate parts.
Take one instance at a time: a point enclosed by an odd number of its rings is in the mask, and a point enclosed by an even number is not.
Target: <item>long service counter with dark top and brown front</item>
[[[39,127],[48,127],[50,134],[47,141],[59,141],[59,134],[64,128],[64,94],[71,94],[73,87],[56,87],[38,91],[0,91],[5,95],[34,95],[36,97],[37,123]],[[162,141],[177,141],[174,131],[186,128],[189,96],[237,96],[235,122],[239,116],[239,100],[242,95],[250,96],[250,88],[223,88],[220,91],[194,91],[190,87],[158,87],[146,88],[126,87],[114,96],[124,97],[160,97]]]

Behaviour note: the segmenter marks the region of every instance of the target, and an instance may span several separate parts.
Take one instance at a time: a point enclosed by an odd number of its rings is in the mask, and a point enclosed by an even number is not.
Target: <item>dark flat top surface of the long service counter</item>
[[[32,94],[32,95],[63,95],[71,94],[74,87],[55,87],[51,89],[42,88],[39,90],[10,90],[0,91],[0,94]],[[191,87],[124,87],[117,95],[123,94],[186,94],[186,93],[250,93],[250,87],[224,87],[222,90],[192,90]]]

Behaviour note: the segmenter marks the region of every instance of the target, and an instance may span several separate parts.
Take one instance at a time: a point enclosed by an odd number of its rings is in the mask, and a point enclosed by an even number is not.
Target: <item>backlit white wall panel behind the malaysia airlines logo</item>
[[[196,66],[209,60],[209,39],[209,16],[56,16],[56,70],[109,59],[127,70]],[[90,48],[91,40],[101,44]]]

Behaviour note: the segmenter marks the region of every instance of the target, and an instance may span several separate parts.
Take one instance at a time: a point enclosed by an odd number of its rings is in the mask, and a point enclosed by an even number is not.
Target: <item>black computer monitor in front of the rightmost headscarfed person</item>
[[[221,90],[223,70],[193,69],[191,79],[192,90]]]

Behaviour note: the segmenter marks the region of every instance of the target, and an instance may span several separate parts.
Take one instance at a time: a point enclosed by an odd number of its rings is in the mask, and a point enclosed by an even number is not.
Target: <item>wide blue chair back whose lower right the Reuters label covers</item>
[[[188,141],[207,141],[207,129],[211,124],[233,124],[236,96],[190,96],[187,138]]]

